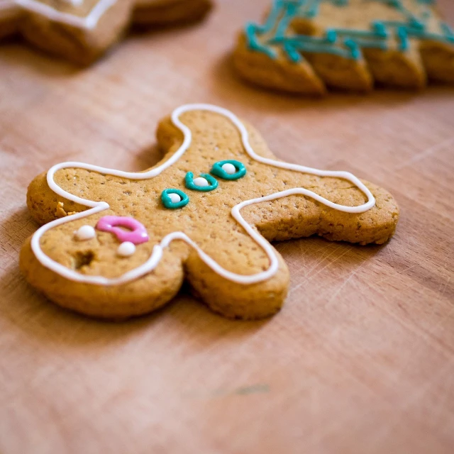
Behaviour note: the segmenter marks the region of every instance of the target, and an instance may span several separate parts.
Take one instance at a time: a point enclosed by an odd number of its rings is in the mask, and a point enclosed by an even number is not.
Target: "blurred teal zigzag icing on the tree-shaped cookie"
[[[441,23],[441,33],[429,33],[427,21],[431,18],[429,7],[433,0],[414,0],[426,5],[421,17],[416,17],[406,9],[402,0],[370,0],[387,4],[402,13],[402,21],[373,21],[370,31],[348,28],[332,28],[322,37],[310,35],[288,35],[293,18],[314,18],[320,13],[321,3],[330,2],[342,8],[349,0],[275,0],[264,25],[248,23],[245,34],[250,50],[262,52],[268,57],[277,58],[277,50],[282,50],[291,62],[304,60],[304,52],[327,53],[359,60],[362,48],[389,49],[389,38],[395,38],[401,52],[409,50],[410,38],[439,40],[454,43],[454,31],[448,24]],[[264,35],[267,35],[265,38]],[[262,39],[260,39],[262,38]]]

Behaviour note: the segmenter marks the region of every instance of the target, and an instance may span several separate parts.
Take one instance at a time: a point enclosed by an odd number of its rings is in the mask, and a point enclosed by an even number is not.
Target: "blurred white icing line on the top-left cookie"
[[[26,11],[41,14],[50,21],[66,23],[69,26],[92,30],[96,27],[101,16],[103,16],[111,6],[114,6],[116,1],[117,0],[99,0],[98,3],[93,6],[92,11],[85,17],[74,16],[74,14],[71,13],[63,13],[62,11],[52,8],[52,6],[40,3],[40,1],[36,0],[4,0],[3,2],[0,0],[0,11],[2,9],[18,7]],[[70,3],[73,6],[80,6],[82,5],[83,0],[67,0],[67,3]]]

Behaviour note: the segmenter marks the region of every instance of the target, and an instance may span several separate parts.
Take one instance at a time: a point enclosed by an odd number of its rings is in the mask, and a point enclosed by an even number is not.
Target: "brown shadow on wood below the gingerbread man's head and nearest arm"
[[[11,289],[13,287],[13,289]],[[262,328],[265,321],[232,321],[210,311],[185,290],[153,313],[124,321],[94,319],[63,309],[31,287],[13,265],[0,278],[0,289],[8,298],[0,301],[0,316],[42,345],[84,350],[123,343],[128,338],[150,336],[157,330],[165,336],[190,337],[203,345],[220,337],[242,338]]]

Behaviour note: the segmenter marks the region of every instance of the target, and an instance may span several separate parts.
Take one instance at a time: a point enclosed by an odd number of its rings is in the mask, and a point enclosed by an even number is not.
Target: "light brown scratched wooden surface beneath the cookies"
[[[133,35],[86,71],[0,47],[1,454],[454,452],[454,91],[314,101],[244,86],[228,51],[265,4],[218,1],[203,25]],[[184,293],[101,323],[28,287],[28,182],[64,160],[149,167],[158,119],[194,101],[247,118],[281,158],[387,187],[396,236],[278,244],[287,304],[254,323]]]

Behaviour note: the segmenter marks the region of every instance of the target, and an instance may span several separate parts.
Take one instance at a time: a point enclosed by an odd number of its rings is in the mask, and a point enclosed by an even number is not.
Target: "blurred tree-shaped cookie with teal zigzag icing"
[[[275,0],[241,33],[234,64],[254,84],[301,94],[420,89],[454,83],[454,32],[433,0]]]

